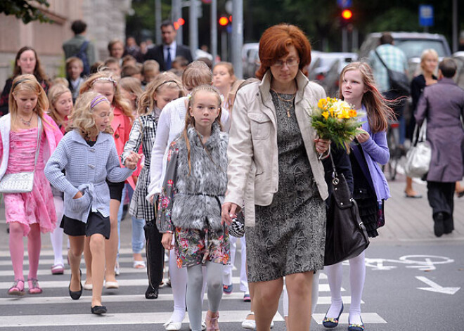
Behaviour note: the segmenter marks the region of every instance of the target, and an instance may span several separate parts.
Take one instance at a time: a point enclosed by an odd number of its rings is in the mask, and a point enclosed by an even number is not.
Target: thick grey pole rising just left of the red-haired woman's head
[[[243,77],[243,0],[232,1],[232,65],[238,79]]]

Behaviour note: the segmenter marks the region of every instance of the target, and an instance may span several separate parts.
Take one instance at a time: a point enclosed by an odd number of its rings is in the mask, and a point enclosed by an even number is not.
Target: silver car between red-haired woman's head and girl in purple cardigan
[[[342,69],[358,60],[356,53],[315,53],[316,59],[308,67],[308,78],[321,84],[330,97],[337,96],[338,78]],[[311,52],[313,56],[313,52]]]

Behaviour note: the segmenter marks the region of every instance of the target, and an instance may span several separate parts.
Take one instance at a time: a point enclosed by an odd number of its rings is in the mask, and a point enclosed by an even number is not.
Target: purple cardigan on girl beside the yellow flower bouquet
[[[362,107],[362,111],[367,114],[366,107]],[[364,156],[368,164],[370,179],[377,195],[377,201],[387,200],[390,195],[390,189],[388,187],[387,179],[380,169],[379,164],[387,164],[390,158],[390,152],[387,145],[387,133],[385,131],[373,134],[370,130],[369,122],[367,117],[361,118],[363,123],[362,128],[366,130],[370,136],[367,141],[361,143],[363,148]]]

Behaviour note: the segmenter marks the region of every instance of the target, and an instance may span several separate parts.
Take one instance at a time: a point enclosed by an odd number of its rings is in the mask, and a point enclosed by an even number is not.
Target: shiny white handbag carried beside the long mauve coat
[[[417,131],[419,132],[417,133]],[[430,160],[432,160],[432,148],[427,141],[427,121],[425,120],[418,129],[415,125],[413,145],[406,154],[406,165],[404,171],[406,176],[421,178],[430,169]]]

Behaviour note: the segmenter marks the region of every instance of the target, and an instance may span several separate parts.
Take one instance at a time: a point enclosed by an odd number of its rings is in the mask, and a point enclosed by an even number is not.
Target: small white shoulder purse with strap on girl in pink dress
[[[37,166],[40,148],[41,120],[39,117],[37,134],[37,148],[35,150],[34,170],[32,172],[18,172],[5,174],[0,180],[0,193],[28,193],[34,186],[34,171]]]

